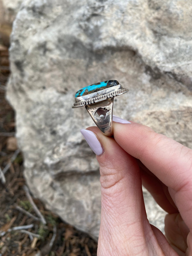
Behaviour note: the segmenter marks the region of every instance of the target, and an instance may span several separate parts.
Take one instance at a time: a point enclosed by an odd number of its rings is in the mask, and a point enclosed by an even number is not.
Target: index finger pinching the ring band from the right
[[[170,189],[180,214],[192,230],[192,150],[141,124],[113,123],[114,138]]]

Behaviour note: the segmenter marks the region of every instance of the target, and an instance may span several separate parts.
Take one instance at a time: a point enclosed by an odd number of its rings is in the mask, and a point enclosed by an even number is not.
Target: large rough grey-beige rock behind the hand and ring
[[[49,209],[94,237],[99,170],[79,132],[94,123],[71,108],[75,92],[117,79],[130,91],[115,98],[115,115],[192,147],[191,11],[185,0],[25,0],[17,14],[7,97],[25,177]],[[146,204],[163,230],[164,212],[148,195]]]

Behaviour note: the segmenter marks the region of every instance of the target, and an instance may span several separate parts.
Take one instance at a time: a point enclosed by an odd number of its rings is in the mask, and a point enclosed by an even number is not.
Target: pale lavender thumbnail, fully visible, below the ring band
[[[103,153],[103,148],[101,147],[101,144],[97,139],[95,133],[85,129],[81,129],[80,131],[85,140],[87,141],[89,147],[92,149],[92,151],[97,156],[101,155]]]

